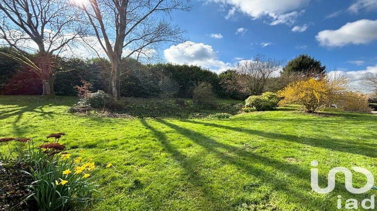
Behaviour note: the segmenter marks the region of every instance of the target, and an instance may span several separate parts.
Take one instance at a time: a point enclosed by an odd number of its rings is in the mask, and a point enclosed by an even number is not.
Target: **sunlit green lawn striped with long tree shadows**
[[[337,166],[377,175],[377,116],[308,115],[285,108],[211,120],[111,119],[67,112],[74,97],[0,96],[0,136],[61,139],[72,154],[111,162],[97,176],[103,201],[87,210],[337,210],[337,195],[353,195],[344,176],[329,194],[310,186],[310,162],[320,184]],[[5,150],[5,148],[2,148]],[[353,174],[353,186],[365,183]]]

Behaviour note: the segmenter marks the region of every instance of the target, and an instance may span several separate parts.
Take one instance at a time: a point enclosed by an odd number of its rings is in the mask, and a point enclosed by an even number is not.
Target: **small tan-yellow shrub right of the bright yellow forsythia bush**
[[[368,105],[368,97],[365,94],[351,91],[345,94],[343,109],[346,112],[371,112],[371,108]]]

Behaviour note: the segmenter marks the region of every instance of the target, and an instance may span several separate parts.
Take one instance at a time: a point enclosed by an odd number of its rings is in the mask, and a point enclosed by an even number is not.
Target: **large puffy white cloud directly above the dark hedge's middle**
[[[224,71],[231,66],[217,59],[212,46],[191,41],[170,46],[164,50],[164,56],[170,63],[198,65],[216,72]]]

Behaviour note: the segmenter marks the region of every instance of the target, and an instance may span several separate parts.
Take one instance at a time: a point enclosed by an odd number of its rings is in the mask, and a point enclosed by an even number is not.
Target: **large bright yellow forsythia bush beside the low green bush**
[[[306,112],[315,113],[325,105],[342,100],[345,84],[345,79],[317,80],[311,78],[297,81],[278,91],[278,95],[283,98],[280,105],[299,103],[304,106]]]

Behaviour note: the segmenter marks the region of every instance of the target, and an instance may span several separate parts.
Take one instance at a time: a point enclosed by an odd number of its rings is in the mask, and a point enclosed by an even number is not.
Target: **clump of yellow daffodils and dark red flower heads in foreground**
[[[0,162],[23,166],[27,176],[24,181],[28,184],[20,183],[23,186],[15,189],[27,190],[29,195],[24,200],[36,204],[38,210],[71,210],[93,199],[93,193],[97,192],[93,182],[95,162],[81,157],[72,159],[64,151],[65,146],[58,143],[63,135],[51,134],[47,138],[53,138],[53,141],[38,147],[31,139],[0,139],[0,143],[18,143],[17,156],[12,155],[15,152],[9,147],[9,156],[2,155]]]

